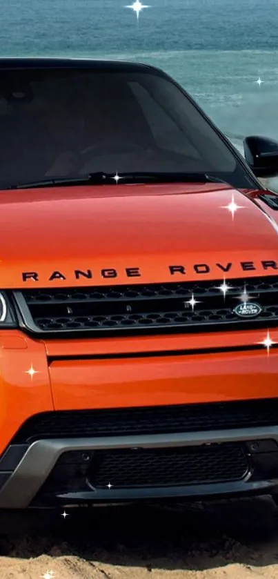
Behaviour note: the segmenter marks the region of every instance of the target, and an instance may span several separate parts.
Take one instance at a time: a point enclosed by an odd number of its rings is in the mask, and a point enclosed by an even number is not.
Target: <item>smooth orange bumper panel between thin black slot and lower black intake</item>
[[[52,362],[56,410],[274,398],[278,351]],[[264,386],[262,386],[264,384]]]

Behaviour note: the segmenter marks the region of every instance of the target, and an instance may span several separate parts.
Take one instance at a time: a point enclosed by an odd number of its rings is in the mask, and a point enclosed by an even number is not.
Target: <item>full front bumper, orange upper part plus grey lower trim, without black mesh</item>
[[[24,508],[40,502],[117,502],[121,500],[185,496],[274,493],[278,484],[278,412],[272,423],[252,423],[230,428],[210,424],[188,431],[167,431],[157,424],[155,433],[134,431],[128,436],[71,436],[63,431],[35,435],[14,442],[23,424],[40,413],[109,410],[139,407],[260,400],[278,398],[278,349],[268,353],[258,342],[266,331],[177,335],[107,340],[34,340],[19,331],[0,334],[0,508]],[[278,331],[271,331],[278,343]],[[212,346],[213,341],[213,348]],[[237,417],[235,417],[237,418]],[[92,418],[93,420],[93,418]],[[103,419],[105,420],[105,418]],[[265,426],[264,426],[265,424]],[[267,444],[252,451],[250,444]],[[94,487],[79,464],[70,462],[72,489],[43,489],[64,453],[77,455],[101,449],[202,449],[208,444],[244,447],[248,469],[240,478],[198,484],[136,484]],[[269,446],[270,445],[270,446]],[[273,446],[274,445],[274,446]],[[76,456],[77,456],[76,455]],[[260,455],[260,456],[259,456]],[[70,458],[71,460],[71,458]],[[82,467],[82,468],[81,468]],[[63,467],[65,468],[65,467]],[[75,475],[83,473],[83,486]],[[84,474],[85,473],[85,474]],[[82,477],[81,477],[82,478]],[[111,484],[111,487],[108,487]]]

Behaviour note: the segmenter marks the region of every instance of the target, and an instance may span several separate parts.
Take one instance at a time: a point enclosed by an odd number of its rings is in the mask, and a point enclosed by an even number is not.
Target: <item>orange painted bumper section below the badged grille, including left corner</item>
[[[278,330],[270,335],[278,342]],[[252,351],[264,337],[266,331],[256,330],[220,332],[213,337],[202,333],[43,343],[20,331],[2,332],[0,453],[25,420],[43,411],[274,398],[278,396],[278,350],[270,349],[269,356],[264,346]],[[250,351],[190,354],[197,348],[236,345],[249,345]],[[166,351],[168,355],[159,355]],[[175,355],[175,351],[184,354]],[[146,355],[124,357],[139,352]],[[113,358],[120,353],[121,359]],[[110,358],[93,359],[101,354],[110,354]],[[92,359],[81,360],[81,355]],[[55,360],[58,356],[68,360]],[[30,368],[33,375],[28,373]]]

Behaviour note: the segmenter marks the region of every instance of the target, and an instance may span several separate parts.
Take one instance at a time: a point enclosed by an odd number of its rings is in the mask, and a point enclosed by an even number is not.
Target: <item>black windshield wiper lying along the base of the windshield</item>
[[[110,185],[121,183],[144,184],[153,183],[223,183],[230,185],[218,177],[207,173],[90,173],[84,177],[57,177],[56,179],[42,179],[31,183],[22,183],[9,186],[8,189],[30,189],[40,187],[63,187],[78,185]]]

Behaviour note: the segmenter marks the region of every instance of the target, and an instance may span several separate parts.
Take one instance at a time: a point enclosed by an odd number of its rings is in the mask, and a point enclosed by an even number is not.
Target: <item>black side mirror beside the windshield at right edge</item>
[[[278,175],[278,142],[266,137],[246,137],[244,157],[256,177]]]

